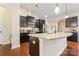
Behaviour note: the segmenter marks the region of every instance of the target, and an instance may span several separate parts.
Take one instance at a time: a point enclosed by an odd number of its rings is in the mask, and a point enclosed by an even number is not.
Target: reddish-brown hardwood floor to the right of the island
[[[79,42],[67,42],[67,48],[61,56],[79,56]]]

